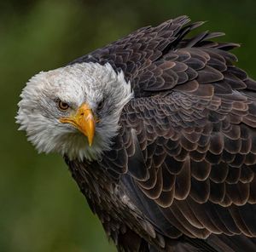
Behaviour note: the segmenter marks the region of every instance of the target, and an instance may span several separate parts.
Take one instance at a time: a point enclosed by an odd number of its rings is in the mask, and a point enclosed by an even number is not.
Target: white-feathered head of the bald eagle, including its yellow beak
[[[20,97],[16,120],[38,152],[92,160],[111,147],[132,92],[108,63],[77,63],[39,72]]]

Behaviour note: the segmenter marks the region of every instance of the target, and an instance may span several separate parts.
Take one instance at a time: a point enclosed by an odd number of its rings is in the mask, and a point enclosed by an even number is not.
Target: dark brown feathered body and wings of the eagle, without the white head
[[[256,251],[256,83],[236,43],[185,16],[74,60],[110,63],[135,98],[112,150],[69,161],[119,251]]]

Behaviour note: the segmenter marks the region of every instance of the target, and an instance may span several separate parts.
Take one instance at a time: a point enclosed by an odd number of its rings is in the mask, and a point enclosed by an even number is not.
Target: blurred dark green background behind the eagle
[[[28,78],[179,14],[241,43],[238,66],[256,77],[255,8],[254,0],[1,1],[0,251],[115,251],[61,157],[38,155],[17,131]]]

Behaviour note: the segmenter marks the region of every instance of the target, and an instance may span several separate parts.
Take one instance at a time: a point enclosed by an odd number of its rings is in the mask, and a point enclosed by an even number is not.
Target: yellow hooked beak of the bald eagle
[[[72,117],[60,118],[61,123],[71,123],[79,129],[85,136],[87,136],[89,146],[92,145],[95,135],[96,119],[86,103],[79,106],[77,112]]]

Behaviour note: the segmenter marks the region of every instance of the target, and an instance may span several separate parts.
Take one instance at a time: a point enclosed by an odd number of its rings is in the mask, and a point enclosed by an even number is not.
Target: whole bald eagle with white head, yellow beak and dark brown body
[[[119,251],[256,251],[256,82],[181,16],[39,72],[16,117]]]

